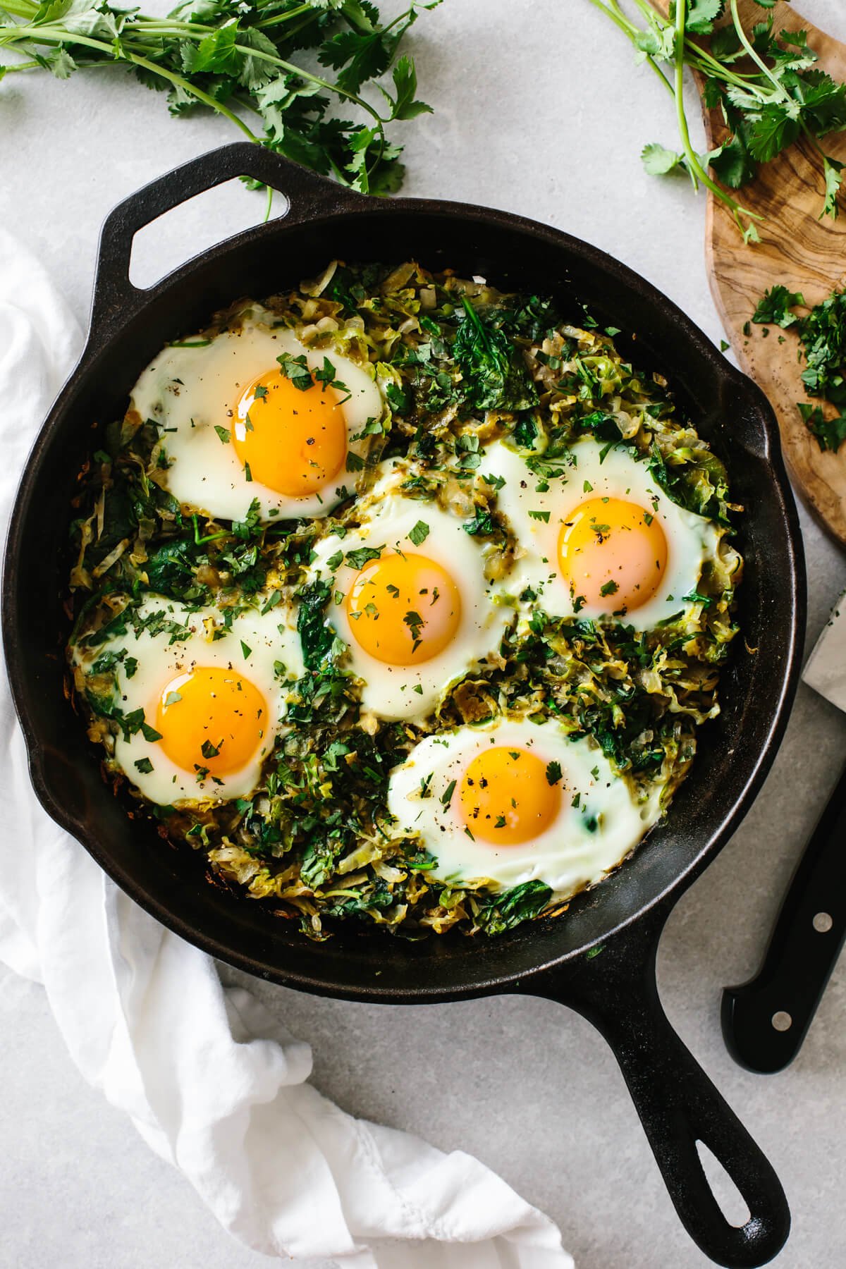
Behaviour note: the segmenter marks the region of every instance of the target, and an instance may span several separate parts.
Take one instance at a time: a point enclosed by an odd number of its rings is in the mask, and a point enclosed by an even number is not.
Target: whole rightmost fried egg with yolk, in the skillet
[[[502,442],[487,450],[523,548],[509,591],[529,588],[552,617],[614,615],[637,629],[682,612],[717,555],[717,525],[667,497],[630,450],[585,439],[569,454],[563,476],[540,478]]]

